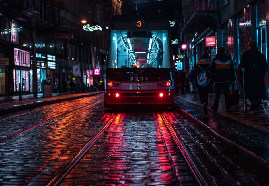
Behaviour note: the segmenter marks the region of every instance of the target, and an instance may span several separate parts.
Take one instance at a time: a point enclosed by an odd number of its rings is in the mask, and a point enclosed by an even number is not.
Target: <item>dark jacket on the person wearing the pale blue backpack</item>
[[[199,65],[199,66],[198,66]],[[199,74],[201,73],[202,69],[206,70],[206,78],[208,79],[208,83],[210,86],[214,83],[214,74],[212,72],[212,66],[210,61],[206,60],[200,60],[196,63],[196,65],[193,67],[192,71],[192,78],[195,79],[197,82],[197,79],[199,77]]]

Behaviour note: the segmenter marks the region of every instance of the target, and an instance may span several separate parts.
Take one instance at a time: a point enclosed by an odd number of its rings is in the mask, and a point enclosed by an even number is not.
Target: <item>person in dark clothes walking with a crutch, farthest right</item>
[[[245,97],[251,103],[249,111],[260,110],[263,79],[268,69],[265,55],[259,51],[257,46],[257,42],[251,40],[250,49],[242,54],[241,59],[241,69],[245,69]]]

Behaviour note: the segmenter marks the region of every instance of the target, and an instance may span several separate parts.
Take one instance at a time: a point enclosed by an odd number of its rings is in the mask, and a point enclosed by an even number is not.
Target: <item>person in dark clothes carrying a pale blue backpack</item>
[[[214,74],[212,73],[211,62],[209,60],[209,53],[204,52],[193,68],[192,79],[196,80],[198,95],[202,103],[204,114],[207,114],[208,106],[208,91],[212,87]]]

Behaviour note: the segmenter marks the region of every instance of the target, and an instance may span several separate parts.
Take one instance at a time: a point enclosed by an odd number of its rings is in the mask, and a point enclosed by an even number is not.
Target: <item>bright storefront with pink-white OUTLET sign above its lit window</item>
[[[15,95],[30,93],[30,52],[14,48],[13,91]]]

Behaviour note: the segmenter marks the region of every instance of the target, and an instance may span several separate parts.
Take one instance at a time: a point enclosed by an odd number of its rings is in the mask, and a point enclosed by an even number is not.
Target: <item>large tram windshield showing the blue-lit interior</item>
[[[173,68],[166,30],[112,30],[110,34],[106,68]]]

